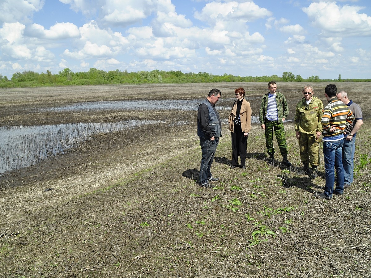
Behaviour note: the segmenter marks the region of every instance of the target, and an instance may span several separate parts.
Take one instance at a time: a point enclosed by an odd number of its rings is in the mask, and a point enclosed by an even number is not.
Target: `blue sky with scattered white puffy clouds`
[[[369,0],[0,0],[0,74],[371,78]]]

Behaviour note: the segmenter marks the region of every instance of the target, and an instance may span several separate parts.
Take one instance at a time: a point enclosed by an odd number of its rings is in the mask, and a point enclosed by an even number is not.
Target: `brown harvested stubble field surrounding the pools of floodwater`
[[[290,104],[288,120],[303,85],[278,83]],[[325,85],[314,84],[324,103]],[[301,165],[290,121],[292,168],[267,164],[264,132],[253,125],[247,169],[230,170],[224,125],[212,167],[220,181],[206,190],[197,184],[196,111],[33,110],[98,100],[203,98],[213,87],[231,98],[231,106],[234,89],[242,86],[257,116],[265,83],[0,90],[3,126],[165,120],[96,135],[65,155],[0,176],[0,277],[370,277],[371,125],[364,93],[370,85],[336,85],[361,106],[364,125],[357,133],[354,184],[330,201],[313,197],[323,191],[323,163],[316,179],[295,173]],[[229,111],[220,113],[225,119]],[[174,119],[190,123],[171,126]]]

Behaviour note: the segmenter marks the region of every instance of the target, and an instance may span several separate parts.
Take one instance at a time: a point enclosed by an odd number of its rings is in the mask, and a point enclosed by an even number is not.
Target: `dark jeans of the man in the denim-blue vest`
[[[200,185],[208,183],[208,178],[212,177],[210,168],[214,161],[214,155],[219,143],[219,137],[215,140],[200,137],[200,146],[202,152],[201,166],[200,166]]]

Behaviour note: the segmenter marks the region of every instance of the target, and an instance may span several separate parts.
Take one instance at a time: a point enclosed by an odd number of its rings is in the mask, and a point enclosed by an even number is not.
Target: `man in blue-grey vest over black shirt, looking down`
[[[204,188],[213,188],[209,181],[219,181],[211,175],[210,168],[214,161],[214,155],[221,137],[221,122],[215,104],[219,100],[221,92],[211,89],[207,98],[198,106],[197,113],[197,136],[200,137],[202,151],[200,166],[200,185]]]

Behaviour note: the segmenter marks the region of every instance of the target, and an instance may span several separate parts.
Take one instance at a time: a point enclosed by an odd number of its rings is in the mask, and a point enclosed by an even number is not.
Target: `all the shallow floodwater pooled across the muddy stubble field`
[[[218,110],[229,109],[227,105],[234,99],[221,99]],[[159,111],[182,110],[196,111],[202,99],[178,100],[119,100],[78,102],[59,107],[45,107],[24,110],[42,112],[84,112],[96,113],[97,111]],[[223,119],[226,122],[227,119]],[[0,127],[0,175],[15,169],[28,167],[47,159],[50,156],[63,154],[65,150],[78,147],[79,142],[99,133],[118,132],[138,126],[159,123],[161,120],[128,119],[113,123],[64,123],[56,125],[33,126],[4,126]],[[253,116],[252,122],[258,122]],[[175,125],[184,125],[188,122],[177,120]]]

